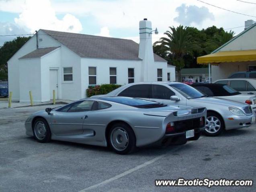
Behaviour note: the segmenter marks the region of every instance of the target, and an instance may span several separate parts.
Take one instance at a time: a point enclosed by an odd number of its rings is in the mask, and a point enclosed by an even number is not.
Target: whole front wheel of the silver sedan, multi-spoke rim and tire
[[[224,129],[222,117],[215,112],[207,112],[204,133],[207,136],[218,136]]]

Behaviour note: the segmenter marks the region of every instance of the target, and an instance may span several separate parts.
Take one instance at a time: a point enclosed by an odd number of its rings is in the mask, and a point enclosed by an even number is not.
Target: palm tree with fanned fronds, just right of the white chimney
[[[172,64],[176,66],[178,81],[181,82],[180,70],[184,67],[183,56],[192,53],[193,48],[195,49],[195,43],[186,27],[178,26],[175,28],[173,26],[169,28],[170,31],[164,33],[167,37],[160,38],[160,41],[155,42],[154,46],[159,44],[172,55]]]

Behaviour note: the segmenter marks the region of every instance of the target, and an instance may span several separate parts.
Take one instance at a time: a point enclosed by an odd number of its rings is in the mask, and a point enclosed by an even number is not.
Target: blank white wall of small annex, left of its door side
[[[30,102],[32,91],[34,102],[41,102],[40,58],[21,59],[19,61],[20,102]]]

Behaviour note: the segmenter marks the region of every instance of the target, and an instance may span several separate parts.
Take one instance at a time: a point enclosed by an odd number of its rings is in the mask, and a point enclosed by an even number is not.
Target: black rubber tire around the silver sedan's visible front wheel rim
[[[224,121],[223,121],[223,118],[215,113],[215,112],[207,112],[207,119],[210,118],[210,117],[213,117],[214,120],[219,120],[219,129],[216,131],[216,132],[210,132],[210,131],[207,131],[207,129],[211,129],[210,127],[209,128],[206,128],[203,133],[206,135],[206,136],[210,136],[210,137],[215,137],[215,136],[218,136],[220,135],[224,128],[225,128],[225,124],[224,124]],[[209,124],[209,122],[206,122],[206,124]],[[213,130],[213,129],[212,129]]]

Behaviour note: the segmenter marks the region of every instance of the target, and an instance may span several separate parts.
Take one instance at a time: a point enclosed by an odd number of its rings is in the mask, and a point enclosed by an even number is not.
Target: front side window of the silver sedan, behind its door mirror
[[[162,85],[153,85],[152,98],[154,99],[170,99],[175,93],[169,88]]]

